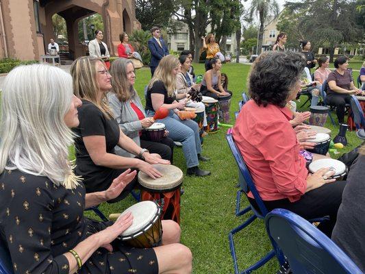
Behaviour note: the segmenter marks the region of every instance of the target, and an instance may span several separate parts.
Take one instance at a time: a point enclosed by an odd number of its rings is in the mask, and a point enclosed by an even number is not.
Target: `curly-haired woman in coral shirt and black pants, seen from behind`
[[[233,136],[266,208],[285,208],[305,219],[329,215],[319,228],[331,236],[345,182],[328,179],[329,169],[308,173],[286,108],[301,89],[305,64],[300,53],[262,53],[249,76],[252,100],[240,111]],[[251,193],[249,199],[255,205]]]

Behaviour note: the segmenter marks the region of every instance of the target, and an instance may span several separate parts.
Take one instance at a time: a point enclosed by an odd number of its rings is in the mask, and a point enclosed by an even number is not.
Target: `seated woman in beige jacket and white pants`
[[[176,76],[176,90],[177,90],[176,99],[178,101],[180,101],[181,99],[184,100],[188,98],[189,92],[191,91],[198,92],[201,87],[201,84],[194,84],[192,75],[188,73],[191,66],[191,60],[188,57],[188,55],[181,55],[179,57],[179,61],[181,64],[181,70]],[[190,100],[186,102],[186,106],[191,108],[200,108],[204,110],[203,127],[206,127],[207,117],[205,116],[204,103]]]

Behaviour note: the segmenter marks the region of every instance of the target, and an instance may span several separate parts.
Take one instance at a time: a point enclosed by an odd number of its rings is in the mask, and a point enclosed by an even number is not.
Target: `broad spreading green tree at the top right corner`
[[[288,2],[285,6],[287,12],[281,16],[279,29],[288,36],[297,36],[298,40],[310,40],[315,47],[327,45],[330,62],[333,62],[335,47],[344,42],[364,41],[364,28],[356,21],[354,1],[304,0]]]

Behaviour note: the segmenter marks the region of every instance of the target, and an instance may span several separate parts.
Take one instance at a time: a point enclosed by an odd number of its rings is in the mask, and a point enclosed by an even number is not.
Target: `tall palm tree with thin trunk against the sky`
[[[257,34],[257,48],[256,54],[261,53],[262,40],[264,38],[264,27],[266,18],[270,15],[277,16],[279,14],[279,4],[276,0],[252,0],[249,8],[249,16],[253,18],[253,15],[257,15],[259,18],[259,31]]]

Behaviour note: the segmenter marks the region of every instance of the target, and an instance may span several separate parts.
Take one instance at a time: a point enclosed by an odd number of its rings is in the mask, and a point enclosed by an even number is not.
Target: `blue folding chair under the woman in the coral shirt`
[[[228,141],[229,148],[231,149],[232,154],[234,155],[234,158],[237,162],[238,170],[239,170],[239,180],[240,180],[241,189],[238,190],[237,197],[236,197],[236,215],[237,216],[244,215],[247,212],[250,212],[251,210],[254,214],[253,216],[250,216],[249,219],[247,219],[247,221],[244,221],[244,223],[242,223],[242,225],[238,225],[238,227],[232,229],[231,232],[229,232],[229,234],[228,234],[229,248],[231,249],[231,256],[234,260],[234,271],[236,274],[240,274],[240,273],[246,274],[246,273],[251,273],[252,271],[254,271],[256,269],[259,269],[261,266],[266,264],[266,262],[268,262],[271,258],[273,258],[275,256],[275,252],[273,250],[269,251],[266,254],[266,256],[264,256],[259,261],[257,261],[255,264],[252,264],[251,266],[249,266],[248,269],[245,269],[242,272],[240,272],[238,269],[236,249],[235,249],[235,245],[234,245],[234,234],[240,232],[240,230],[244,229],[244,227],[247,227],[248,225],[250,225],[253,221],[255,221],[255,219],[257,219],[257,218],[264,219],[266,214],[268,213],[268,210],[266,209],[266,206],[264,205],[264,202],[262,201],[259,192],[257,192],[255,184],[253,183],[253,180],[249,173],[249,169],[247,169],[246,164],[244,164],[242,155],[240,154],[240,152],[234,142],[234,138],[231,134],[231,129],[228,130],[226,138]],[[250,203],[250,206],[248,206],[247,208],[240,210],[241,194],[244,193],[247,196],[247,194],[250,191],[253,194],[253,197],[255,197],[255,201],[257,203],[259,210],[256,210],[255,207],[253,207],[251,205],[251,203]],[[279,251],[278,251],[278,253],[279,253]],[[278,260],[281,265],[285,264],[284,256],[281,256],[281,257],[278,256]]]

